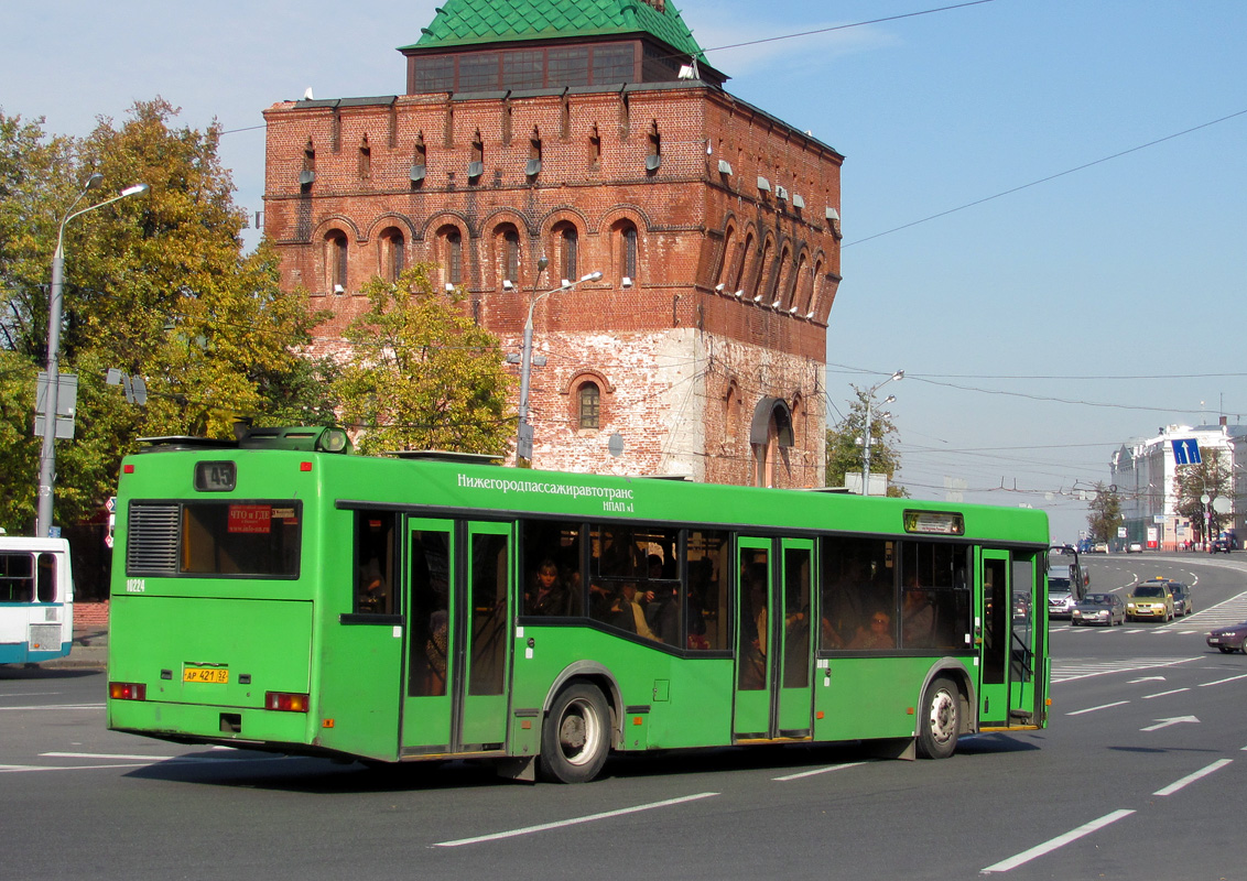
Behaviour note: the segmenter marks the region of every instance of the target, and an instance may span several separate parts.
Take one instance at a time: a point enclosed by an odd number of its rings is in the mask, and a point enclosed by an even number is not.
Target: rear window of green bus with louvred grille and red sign
[[[294,501],[135,502],[126,572],[297,578],[302,521]]]

